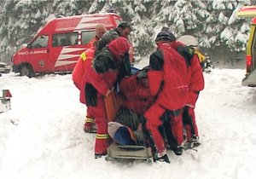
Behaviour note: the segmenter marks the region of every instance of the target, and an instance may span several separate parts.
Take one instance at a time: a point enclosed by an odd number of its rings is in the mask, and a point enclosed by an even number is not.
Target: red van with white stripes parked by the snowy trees
[[[112,29],[119,25],[118,14],[82,14],[56,18],[38,30],[26,47],[12,57],[13,71],[32,77],[35,73],[72,72],[79,55],[95,37],[95,26]]]

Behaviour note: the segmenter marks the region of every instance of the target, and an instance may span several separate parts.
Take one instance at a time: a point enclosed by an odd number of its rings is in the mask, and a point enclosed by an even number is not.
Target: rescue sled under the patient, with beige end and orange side
[[[122,103],[122,98],[114,90],[108,97],[105,97],[105,106],[108,117],[108,122],[112,122]],[[153,161],[153,153],[151,147],[137,146],[137,145],[119,145],[113,142],[108,147],[108,154],[105,157],[107,161],[114,159],[140,159],[146,160],[147,163]]]

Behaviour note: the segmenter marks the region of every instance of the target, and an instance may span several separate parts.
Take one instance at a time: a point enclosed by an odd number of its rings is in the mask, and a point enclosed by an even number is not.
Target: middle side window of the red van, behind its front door
[[[79,32],[72,33],[56,33],[52,37],[52,46],[69,46],[79,42]]]

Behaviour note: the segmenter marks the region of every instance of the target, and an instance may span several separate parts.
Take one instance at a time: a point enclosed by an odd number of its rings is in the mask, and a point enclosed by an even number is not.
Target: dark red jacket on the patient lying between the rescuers
[[[149,88],[143,86],[142,82],[137,79],[137,75],[123,78],[119,88],[125,95],[122,106],[135,113],[144,114],[154,102],[154,96],[150,95]]]

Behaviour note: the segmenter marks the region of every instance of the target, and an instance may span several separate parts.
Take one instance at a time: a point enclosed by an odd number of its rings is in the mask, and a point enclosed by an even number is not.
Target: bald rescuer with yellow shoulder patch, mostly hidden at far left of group
[[[96,43],[98,42],[98,40],[100,38],[102,38],[102,35],[107,32],[107,29],[104,25],[102,24],[98,24],[96,25],[96,37],[93,38],[90,43],[89,46],[90,48],[94,48],[96,46]],[[94,54],[91,53],[95,52],[94,50],[86,50],[84,51],[80,57],[79,60],[76,64],[76,66],[73,69],[73,74],[72,74],[72,78],[73,78],[73,83],[75,84],[75,86],[81,90],[81,83],[84,77],[84,71],[85,71],[85,62],[87,59],[87,56],[89,56],[90,58],[93,58]],[[82,90],[84,93],[84,90]],[[81,101],[82,100],[82,101]],[[84,98],[80,98],[80,101],[82,103],[84,103]],[[84,123],[84,132],[88,132],[88,133],[95,133],[96,129],[95,129],[95,124],[94,124],[94,118],[92,116],[92,113],[90,112],[90,107],[87,107],[86,109],[86,116],[85,116],[85,123]]]

